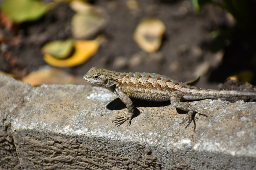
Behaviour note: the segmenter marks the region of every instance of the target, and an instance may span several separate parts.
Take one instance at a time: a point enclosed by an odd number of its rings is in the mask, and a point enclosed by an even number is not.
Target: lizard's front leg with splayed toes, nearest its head
[[[129,120],[129,126],[130,126],[132,121],[132,116],[134,115],[134,106],[133,106],[132,100],[126,94],[124,94],[123,92],[120,92],[118,87],[115,88],[114,94],[116,94],[118,98],[120,98],[122,102],[124,102],[124,104],[128,109],[128,114],[124,113],[125,115],[123,116],[116,116],[116,120],[113,120],[112,122],[116,123],[115,127],[117,127],[122,125],[125,121]]]

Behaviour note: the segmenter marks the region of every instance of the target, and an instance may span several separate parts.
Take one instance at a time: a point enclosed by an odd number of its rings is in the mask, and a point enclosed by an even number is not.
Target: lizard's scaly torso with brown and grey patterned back
[[[105,72],[106,74],[106,72]],[[162,102],[170,100],[173,91],[194,88],[178,80],[156,73],[108,72],[110,79],[130,98]]]

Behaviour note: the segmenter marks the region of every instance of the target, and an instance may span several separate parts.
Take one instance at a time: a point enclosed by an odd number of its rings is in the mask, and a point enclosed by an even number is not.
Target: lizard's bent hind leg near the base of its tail
[[[171,94],[170,100],[171,100],[172,106],[174,106],[178,109],[184,110],[184,111],[188,111],[187,117],[180,123],[180,125],[181,124],[183,124],[183,125],[188,124],[189,125],[192,121],[192,115],[195,112],[198,112],[196,107],[192,106],[188,102],[182,102],[182,94],[180,92],[173,92]]]

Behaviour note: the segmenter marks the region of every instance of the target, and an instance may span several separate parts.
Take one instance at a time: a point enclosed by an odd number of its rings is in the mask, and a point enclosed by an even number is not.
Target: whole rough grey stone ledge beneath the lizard
[[[191,102],[186,116],[169,102],[133,100],[132,125],[114,127],[126,111],[103,88],[28,84],[0,76],[2,169],[256,169],[256,103]]]

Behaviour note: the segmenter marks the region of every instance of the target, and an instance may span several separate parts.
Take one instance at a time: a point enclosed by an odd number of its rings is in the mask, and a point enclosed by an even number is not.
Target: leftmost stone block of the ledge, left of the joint
[[[28,84],[0,75],[0,169],[20,169],[10,121],[30,88]]]

